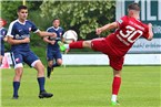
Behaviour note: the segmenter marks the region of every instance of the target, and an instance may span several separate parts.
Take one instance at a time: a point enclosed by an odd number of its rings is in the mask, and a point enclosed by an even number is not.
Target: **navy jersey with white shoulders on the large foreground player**
[[[11,36],[13,40],[23,40],[30,38],[30,32],[37,33],[39,29],[29,20],[24,23],[16,20],[10,23],[7,35]],[[29,43],[21,43],[11,46],[11,51],[29,51]]]

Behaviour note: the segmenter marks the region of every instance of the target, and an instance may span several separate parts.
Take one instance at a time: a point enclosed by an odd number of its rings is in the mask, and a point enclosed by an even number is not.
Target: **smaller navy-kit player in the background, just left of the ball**
[[[53,39],[52,36],[43,38],[43,41],[48,43],[47,46],[47,60],[48,60],[48,67],[47,67],[47,77],[50,78],[51,72],[54,67],[60,66],[62,64],[62,55],[58,45],[58,41],[61,41],[63,29],[60,26],[60,20],[53,19],[52,26],[47,29],[47,32],[54,32],[57,33],[57,38]],[[54,60],[54,61],[53,61]]]

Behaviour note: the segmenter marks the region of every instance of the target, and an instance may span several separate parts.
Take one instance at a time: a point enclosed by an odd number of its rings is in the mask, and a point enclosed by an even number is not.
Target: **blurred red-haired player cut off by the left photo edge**
[[[6,25],[6,21],[0,18],[0,66],[2,64],[2,58],[4,55],[4,41],[7,41],[6,34],[7,34],[7,29],[3,26]]]

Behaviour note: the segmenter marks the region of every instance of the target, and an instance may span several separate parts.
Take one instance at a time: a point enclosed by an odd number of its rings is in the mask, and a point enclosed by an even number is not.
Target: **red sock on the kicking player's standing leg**
[[[114,77],[112,84],[112,95],[118,95],[121,85],[121,77]]]

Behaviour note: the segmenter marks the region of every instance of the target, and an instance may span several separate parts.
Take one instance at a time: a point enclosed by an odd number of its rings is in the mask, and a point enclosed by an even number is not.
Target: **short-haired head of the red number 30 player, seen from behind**
[[[140,7],[138,3],[134,2],[128,6],[128,15],[139,19],[139,14],[140,14]]]

